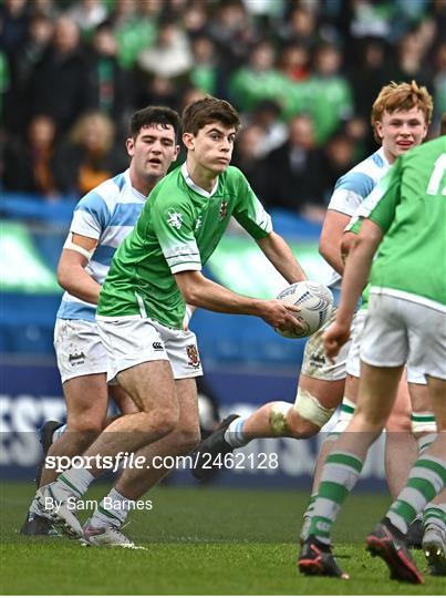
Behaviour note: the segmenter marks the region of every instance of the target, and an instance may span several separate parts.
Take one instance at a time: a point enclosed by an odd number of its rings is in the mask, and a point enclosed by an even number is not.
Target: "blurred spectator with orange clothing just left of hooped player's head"
[[[115,147],[114,135],[112,121],[100,112],[76,122],[54,159],[54,178],[63,193],[84,195],[125,168],[127,161]]]

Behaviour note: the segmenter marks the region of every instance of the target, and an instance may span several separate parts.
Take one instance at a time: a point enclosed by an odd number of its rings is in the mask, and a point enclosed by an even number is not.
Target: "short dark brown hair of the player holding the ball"
[[[183,111],[183,133],[197,135],[200,128],[215,122],[222,123],[227,127],[234,126],[236,131],[240,126],[240,117],[236,109],[226,100],[211,95],[191,102]]]

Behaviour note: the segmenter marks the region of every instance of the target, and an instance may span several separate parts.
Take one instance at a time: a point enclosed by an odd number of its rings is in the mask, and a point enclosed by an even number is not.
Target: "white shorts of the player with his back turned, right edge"
[[[407,364],[407,381],[446,380],[446,313],[407,298],[371,292],[361,360],[377,368]],[[422,382],[424,380],[424,382]]]

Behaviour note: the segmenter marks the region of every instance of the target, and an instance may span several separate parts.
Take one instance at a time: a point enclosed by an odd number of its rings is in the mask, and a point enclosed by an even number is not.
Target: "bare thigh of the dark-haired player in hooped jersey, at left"
[[[69,430],[102,430],[108,404],[105,373],[71,378],[63,384],[63,394]]]

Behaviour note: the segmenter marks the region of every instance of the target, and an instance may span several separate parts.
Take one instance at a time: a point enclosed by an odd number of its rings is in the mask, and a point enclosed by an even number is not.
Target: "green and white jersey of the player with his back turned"
[[[446,136],[401,156],[357,215],[384,233],[371,292],[446,312]]]

